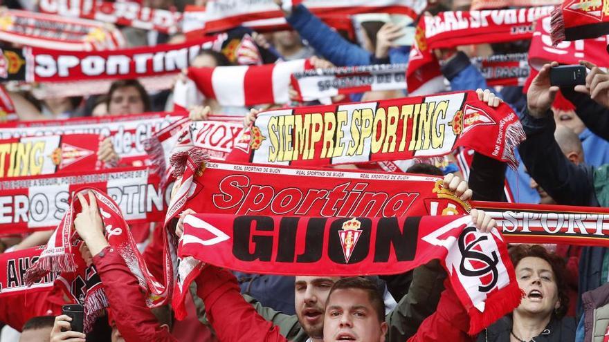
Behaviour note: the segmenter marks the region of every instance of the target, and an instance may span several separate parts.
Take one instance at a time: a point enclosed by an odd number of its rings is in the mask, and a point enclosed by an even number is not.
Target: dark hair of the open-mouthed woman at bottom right
[[[552,267],[554,273],[554,281],[556,282],[556,288],[558,289],[558,300],[561,301],[561,306],[554,310],[552,314],[556,316],[556,319],[562,319],[567,310],[569,310],[569,294],[567,293],[567,267],[565,260],[554,253],[548,253],[548,251],[540,245],[515,245],[509,249],[509,257],[514,268],[518,266],[520,260],[527,257],[540,258]]]

